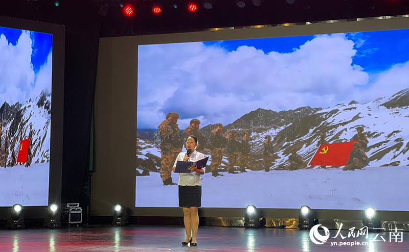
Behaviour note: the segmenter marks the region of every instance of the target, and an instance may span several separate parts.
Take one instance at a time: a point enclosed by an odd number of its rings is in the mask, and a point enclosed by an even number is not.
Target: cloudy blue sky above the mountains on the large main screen
[[[156,128],[171,111],[183,128],[192,118],[227,124],[257,108],[392,95],[409,88],[407,38],[394,30],[140,46],[138,128]]]

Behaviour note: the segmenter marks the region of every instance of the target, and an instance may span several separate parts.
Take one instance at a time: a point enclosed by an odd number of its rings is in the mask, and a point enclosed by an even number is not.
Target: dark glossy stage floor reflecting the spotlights
[[[197,247],[182,247],[184,229],[177,226],[126,226],[123,228],[79,227],[58,230],[1,230],[0,251],[409,251],[409,233],[403,242],[355,238],[329,239],[323,245],[311,242],[308,231],[245,230],[244,228],[200,227]],[[377,232],[381,233],[381,232]],[[331,231],[330,237],[336,231]],[[341,234],[347,234],[343,231]],[[332,246],[331,242],[368,241],[363,246]]]

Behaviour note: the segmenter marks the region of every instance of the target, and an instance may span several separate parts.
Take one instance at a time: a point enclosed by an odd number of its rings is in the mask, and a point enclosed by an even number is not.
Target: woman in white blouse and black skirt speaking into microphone
[[[173,171],[176,168],[177,161],[191,161],[195,162],[205,158],[205,155],[196,151],[198,145],[195,136],[189,136],[186,140],[186,149],[188,152],[181,152],[177,155],[176,161],[173,165]],[[183,209],[183,221],[186,230],[186,239],[182,242],[183,246],[191,243],[192,246],[197,246],[197,229],[199,227],[198,208],[201,206],[201,177],[205,173],[205,168],[198,169],[190,166],[190,173],[179,173],[179,207]]]

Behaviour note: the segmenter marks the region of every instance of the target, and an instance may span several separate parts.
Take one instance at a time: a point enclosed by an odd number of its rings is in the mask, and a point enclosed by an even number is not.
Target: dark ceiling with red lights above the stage
[[[252,1],[243,0],[246,7],[240,9],[236,0],[214,0],[207,10],[196,0],[199,10],[189,13],[188,0],[59,0],[58,7],[55,0],[3,0],[0,15],[74,27],[99,23],[100,36],[106,37],[409,14],[408,0],[261,0],[259,7]],[[131,18],[122,14],[120,5],[127,3],[135,8]],[[162,4],[161,15],[152,14],[154,3]]]

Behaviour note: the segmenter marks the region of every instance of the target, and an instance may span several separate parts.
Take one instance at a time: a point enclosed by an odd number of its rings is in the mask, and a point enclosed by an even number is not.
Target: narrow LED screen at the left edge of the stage
[[[52,34],[0,27],[0,206],[46,206]]]

